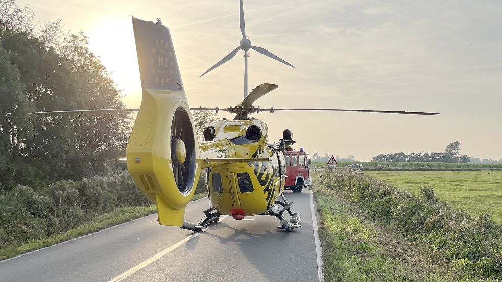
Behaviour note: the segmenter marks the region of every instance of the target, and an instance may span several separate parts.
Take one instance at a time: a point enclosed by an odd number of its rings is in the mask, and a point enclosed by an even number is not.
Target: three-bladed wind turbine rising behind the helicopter
[[[281,58],[277,57],[276,55],[272,54],[272,52],[266,50],[265,48],[253,46],[251,44],[251,40],[246,38],[246,27],[245,27],[245,23],[244,23],[244,8],[242,5],[242,0],[240,0],[240,11],[239,12],[240,12],[239,24],[241,26],[241,32],[242,32],[242,40],[241,40],[241,42],[239,42],[239,46],[237,48],[235,48],[234,50],[232,50],[232,52],[230,52],[227,56],[223,57],[223,59],[221,59],[214,66],[212,66],[208,70],[206,70],[206,72],[202,73],[201,76],[199,76],[199,77],[202,78],[202,76],[205,75],[206,73],[208,73],[209,71],[223,65],[224,63],[226,63],[227,61],[229,61],[230,59],[235,57],[235,54],[237,54],[237,52],[239,52],[239,50],[241,49],[244,51],[244,55],[243,55],[243,57],[244,57],[244,98],[246,98],[246,96],[248,95],[248,57],[249,57],[248,51],[249,51],[249,49],[253,49],[253,50],[257,51],[258,53],[261,53],[265,56],[268,56],[272,59],[275,59],[275,60],[277,60],[283,64],[286,64],[290,67],[295,67],[295,66],[282,60]]]

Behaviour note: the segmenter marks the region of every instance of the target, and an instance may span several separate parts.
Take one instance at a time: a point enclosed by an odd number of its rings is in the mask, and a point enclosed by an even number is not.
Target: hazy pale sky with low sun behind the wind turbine
[[[441,115],[254,115],[268,124],[270,142],[288,128],[297,149],[366,161],[379,153],[440,152],[458,140],[461,153],[502,159],[502,2],[271,3],[244,0],[247,38],[296,68],[251,52],[248,90],[279,85],[255,106]],[[243,98],[241,53],[199,78],[242,39],[238,0],[18,0],[18,5],[36,9],[37,21],[61,18],[64,29],[83,31],[130,107],[141,102],[131,15],[160,17],[170,28],[191,107],[234,106]]]

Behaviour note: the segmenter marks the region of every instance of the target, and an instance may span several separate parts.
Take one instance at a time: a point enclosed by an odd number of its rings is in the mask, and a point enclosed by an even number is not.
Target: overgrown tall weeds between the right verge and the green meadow
[[[373,226],[378,224],[389,230],[387,236],[401,237],[411,246],[421,246],[418,250],[422,251],[418,252],[430,258],[432,267],[446,269],[448,279],[502,281],[502,226],[493,222],[489,214],[471,216],[436,199],[430,187],[421,187],[416,195],[390,187],[362,171],[337,169],[325,178],[319,193],[338,193]]]

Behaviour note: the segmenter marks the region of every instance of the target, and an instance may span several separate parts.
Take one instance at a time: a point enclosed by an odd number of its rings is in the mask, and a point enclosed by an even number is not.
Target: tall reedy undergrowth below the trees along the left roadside
[[[127,172],[36,189],[17,185],[0,194],[0,246],[43,239],[119,207],[147,204]]]

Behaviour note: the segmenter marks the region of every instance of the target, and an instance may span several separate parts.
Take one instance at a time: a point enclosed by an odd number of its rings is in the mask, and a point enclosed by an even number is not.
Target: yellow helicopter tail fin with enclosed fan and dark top
[[[127,145],[134,182],[157,204],[159,223],[182,226],[201,165],[199,144],[169,29],[132,18],[142,86]]]

